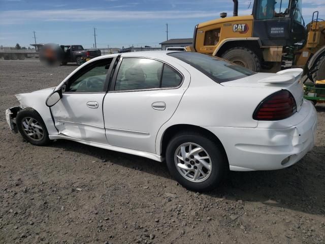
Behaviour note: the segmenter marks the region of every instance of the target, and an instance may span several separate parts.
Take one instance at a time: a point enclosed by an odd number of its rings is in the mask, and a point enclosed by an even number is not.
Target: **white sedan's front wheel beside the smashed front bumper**
[[[21,136],[31,144],[43,146],[50,142],[44,121],[36,110],[32,108],[20,110],[16,116],[16,124]]]

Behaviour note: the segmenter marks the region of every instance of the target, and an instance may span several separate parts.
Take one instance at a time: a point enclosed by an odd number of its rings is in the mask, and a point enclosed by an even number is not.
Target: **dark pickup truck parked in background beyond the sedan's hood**
[[[94,57],[101,56],[101,50],[98,49],[83,49],[81,45],[60,45],[64,54],[62,58],[62,65],[67,63],[77,63],[81,65],[86,60],[89,60]]]

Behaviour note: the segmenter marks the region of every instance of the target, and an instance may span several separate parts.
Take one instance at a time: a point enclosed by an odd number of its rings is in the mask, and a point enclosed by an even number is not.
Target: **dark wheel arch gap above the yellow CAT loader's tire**
[[[220,49],[217,51],[217,56],[221,57],[222,54],[233,48],[233,47],[246,47],[250,50],[252,50],[259,58],[259,60],[263,60],[263,53],[262,53],[262,49],[259,46],[259,43],[257,41],[230,41],[230,42],[226,42],[224,43]]]

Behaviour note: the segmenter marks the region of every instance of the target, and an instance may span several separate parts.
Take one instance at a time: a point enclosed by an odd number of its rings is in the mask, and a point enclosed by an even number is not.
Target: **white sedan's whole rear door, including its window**
[[[181,66],[121,58],[103,102],[109,144],[155,153],[156,134],[175,112],[189,81]]]

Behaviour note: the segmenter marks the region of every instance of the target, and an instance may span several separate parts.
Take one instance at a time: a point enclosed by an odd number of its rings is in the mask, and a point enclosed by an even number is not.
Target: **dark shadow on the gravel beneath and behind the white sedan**
[[[123,167],[142,170],[160,177],[171,178],[166,163],[118,153],[73,141],[57,140],[52,147],[107,160]],[[316,153],[321,151],[322,153]],[[320,163],[325,148],[315,147],[296,165],[282,170],[229,172],[226,180],[206,196],[225,196],[231,200],[262,202],[279,208],[308,214],[325,214],[324,169]],[[185,189],[184,189],[185,190]]]

